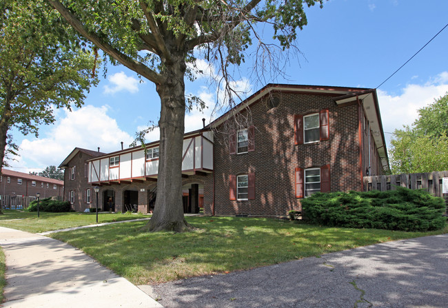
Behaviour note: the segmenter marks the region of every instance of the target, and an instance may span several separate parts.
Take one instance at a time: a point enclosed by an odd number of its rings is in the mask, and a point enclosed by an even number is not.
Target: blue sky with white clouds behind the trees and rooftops
[[[307,9],[307,19],[308,25],[298,33],[303,55],[289,59],[287,78],[267,76],[266,83],[377,88],[448,23],[448,1],[330,0],[322,10]],[[268,28],[261,31],[265,37],[272,35]],[[249,57],[234,74],[247,95],[264,85],[248,73],[252,63]],[[187,114],[186,131],[200,128],[203,117],[210,119],[216,89],[207,80],[200,76],[186,83],[186,92],[200,96],[209,106],[205,114],[196,110]],[[378,88],[386,138],[395,128],[411,124],[418,108],[446,92],[448,28]],[[85,105],[72,112],[57,110],[56,123],[42,126],[39,138],[13,132],[21,156],[10,165],[21,172],[39,172],[48,165],[59,165],[74,147],[119,150],[121,141],[129,145],[137,130],[149,121],[156,122],[159,112],[159,96],[152,83],[141,83],[123,66],[110,67]],[[149,134],[148,141],[158,139],[158,134],[157,130]]]

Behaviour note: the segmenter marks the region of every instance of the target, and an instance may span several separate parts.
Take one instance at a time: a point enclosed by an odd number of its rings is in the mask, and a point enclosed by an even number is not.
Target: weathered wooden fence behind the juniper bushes
[[[394,174],[389,176],[365,176],[364,190],[395,190],[397,186],[410,189],[426,189],[434,196],[445,198],[448,207],[448,194],[442,193],[442,178],[448,178],[448,171]]]

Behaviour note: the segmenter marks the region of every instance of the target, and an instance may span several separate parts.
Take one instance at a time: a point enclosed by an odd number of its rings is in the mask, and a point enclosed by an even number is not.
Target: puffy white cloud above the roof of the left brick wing
[[[127,146],[132,137],[120,130],[115,119],[107,114],[108,106],[85,105],[79,110],[65,110],[65,117],[57,121],[45,138],[24,139],[20,155],[33,165],[59,165],[74,147],[101,152],[121,150],[121,141]],[[16,164],[14,164],[16,165]]]

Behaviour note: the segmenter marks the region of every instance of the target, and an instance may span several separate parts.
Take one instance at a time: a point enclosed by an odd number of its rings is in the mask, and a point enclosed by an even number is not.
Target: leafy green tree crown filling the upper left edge
[[[37,136],[54,108],[81,106],[96,83],[95,57],[74,33],[43,0],[0,2],[0,173],[18,150],[12,127]]]

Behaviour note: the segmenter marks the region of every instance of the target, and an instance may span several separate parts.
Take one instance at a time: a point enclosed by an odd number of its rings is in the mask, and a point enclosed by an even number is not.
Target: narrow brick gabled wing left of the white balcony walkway
[[[64,201],[70,201],[72,209],[78,212],[92,207],[94,195],[92,184],[87,181],[88,159],[104,155],[99,151],[91,151],[75,147],[67,158],[59,165],[64,170]],[[93,206],[94,207],[94,206]]]

